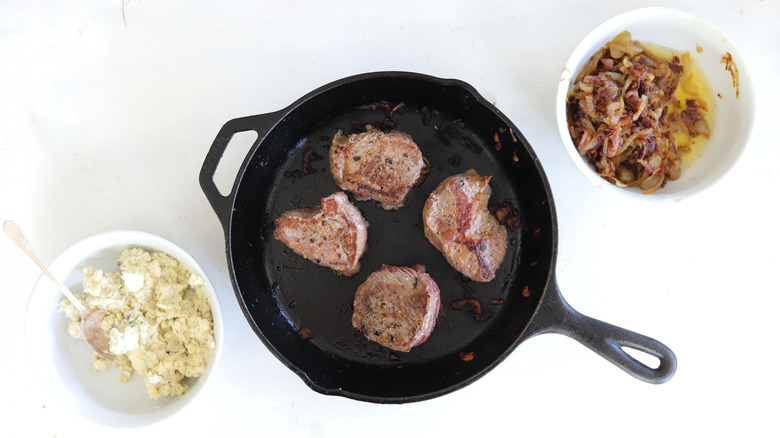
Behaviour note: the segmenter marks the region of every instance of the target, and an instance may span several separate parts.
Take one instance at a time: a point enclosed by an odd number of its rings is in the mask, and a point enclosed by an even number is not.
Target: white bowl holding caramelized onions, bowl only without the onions
[[[566,120],[566,97],[573,79],[593,54],[620,32],[627,30],[634,40],[688,52],[704,72],[715,94],[715,117],[711,136],[701,156],[684,167],[682,176],[667,182],[651,195],[639,188],[619,188],[596,174],[580,156],[569,135]],[[700,50],[697,50],[700,48]],[[721,58],[730,53],[739,71],[739,98]],[[736,163],[747,146],[753,129],[755,103],[753,83],[747,66],[734,46],[712,25],[701,18],[672,8],[634,9],[605,21],[577,45],[561,74],[556,94],[558,130],[566,152],[577,168],[597,187],[643,200],[680,200],[710,187]]]

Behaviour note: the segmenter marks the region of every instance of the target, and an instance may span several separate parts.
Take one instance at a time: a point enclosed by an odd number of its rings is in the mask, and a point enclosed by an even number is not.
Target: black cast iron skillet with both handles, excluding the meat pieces
[[[368,247],[360,272],[344,278],[274,240],[273,221],[338,190],[328,168],[331,138],[338,129],[360,132],[365,124],[410,134],[431,169],[400,210],[355,202],[369,223]],[[223,196],[214,172],[231,137],[244,131],[257,132],[258,139]],[[471,168],[492,175],[491,204],[506,203],[519,217],[490,283],[464,280],[423,235],[428,194]],[[200,185],[224,228],[230,277],[247,320],[318,392],[377,403],[434,398],[474,382],[541,333],[568,335],[647,382],[663,383],[675,372],[676,358],[665,345],[584,316],[564,301],[555,279],[557,223],[544,171],[517,127],[464,82],[363,74],[325,85],[283,110],[230,120],[206,156]],[[355,290],[383,263],[423,264],[441,289],[436,328],[409,353],[372,343],[351,326]],[[453,308],[463,298],[478,300],[480,312]],[[624,347],[655,356],[660,365],[651,368]]]

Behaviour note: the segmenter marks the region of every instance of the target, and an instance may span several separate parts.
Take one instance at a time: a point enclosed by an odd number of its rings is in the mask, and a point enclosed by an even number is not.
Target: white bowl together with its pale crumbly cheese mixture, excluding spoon
[[[139,427],[170,417],[203,390],[219,363],[222,317],[213,285],[187,252],[149,233],[110,231],[73,245],[51,266],[82,302],[111,312],[117,355],[108,363],[78,339],[78,314],[41,277],[27,308],[26,343],[43,389],[63,408],[107,426]]]

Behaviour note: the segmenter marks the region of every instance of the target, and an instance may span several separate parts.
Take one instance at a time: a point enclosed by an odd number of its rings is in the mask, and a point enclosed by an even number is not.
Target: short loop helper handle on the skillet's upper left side
[[[244,158],[244,164],[246,164],[246,160],[252,156],[255,148],[260,144],[263,138],[265,138],[266,134],[268,134],[274,125],[279,122],[283,113],[284,111],[282,110],[274,113],[241,117],[228,121],[222,126],[222,129],[219,130],[217,137],[214,139],[211,148],[209,148],[209,151],[206,154],[206,159],[203,161],[203,165],[200,168],[200,188],[209,200],[211,208],[214,209],[214,212],[217,214],[225,233],[228,232],[230,216],[233,212],[236,184],[233,184],[233,187],[230,189],[230,193],[227,196],[223,196],[222,193],[220,193],[216,184],[214,184],[214,173],[217,171],[219,161],[222,159],[225,149],[227,149],[233,135],[239,132],[255,131],[257,133],[257,140],[255,140],[255,143],[252,145],[246,158]],[[241,173],[243,173],[243,165],[239,175],[241,175]],[[238,175],[236,175],[236,182],[237,179]]]

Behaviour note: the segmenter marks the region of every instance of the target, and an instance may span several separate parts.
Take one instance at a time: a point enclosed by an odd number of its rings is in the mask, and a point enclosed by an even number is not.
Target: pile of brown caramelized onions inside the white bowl
[[[690,86],[683,79],[691,62],[687,53],[657,57],[624,31],[586,64],[569,91],[567,118],[578,152],[600,176],[646,194],[680,177],[687,146],[676,145],[674,134],[710,132],[703,102],[674,97],[678,86]]]

